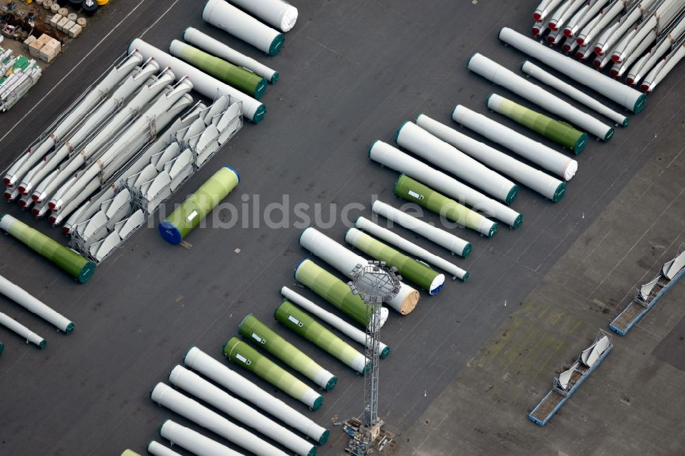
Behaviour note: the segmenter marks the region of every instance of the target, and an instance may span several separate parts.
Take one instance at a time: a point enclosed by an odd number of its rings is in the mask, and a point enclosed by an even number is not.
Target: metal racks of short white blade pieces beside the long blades
[[[199,103],[121,174],[116,190],[105,191],[79,208],[65,230],[74,227],[72,237],[79,249],[101,262],[241,126],[240,103],[230,97],[219,97],[210,107]]]

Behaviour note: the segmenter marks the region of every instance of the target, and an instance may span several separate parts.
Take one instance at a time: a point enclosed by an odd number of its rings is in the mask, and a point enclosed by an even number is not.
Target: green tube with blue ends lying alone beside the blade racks
[[[181,242],[238,185],[238,182],[240,175],[230,166],[224,166],[216,171],[182,205],[160,222],[162,238],[171,244]]]

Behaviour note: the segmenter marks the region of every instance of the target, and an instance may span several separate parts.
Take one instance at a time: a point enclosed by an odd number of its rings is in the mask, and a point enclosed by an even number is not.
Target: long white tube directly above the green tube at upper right
[[[608,142],[614,136],[614,129],[612,127],[601,123],[593,116],[582,112],[577,107],[566,103],[566,101],[527,81],[497,62],[493,62],[493,60],[482,54],[473,54],[466,67],[473,71],[473,73],[488,79],[488,81],[507,88],[528,101],[544,107],[547,111],[565,118],[569,123],[581,127],[604,142]]]

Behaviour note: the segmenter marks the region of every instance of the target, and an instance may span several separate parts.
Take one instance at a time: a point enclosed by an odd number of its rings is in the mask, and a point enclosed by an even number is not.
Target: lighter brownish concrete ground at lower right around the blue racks
[[[682,131],[682,127],[680,129]],[[545,427],[527,414],[685,242],[675,138],[645,164],[402,435],[399,455],[679,455],[685,284],[677,283]],[[662,159],[662,160],[659,160]],[[680,322],[678,323],[678,320]]]

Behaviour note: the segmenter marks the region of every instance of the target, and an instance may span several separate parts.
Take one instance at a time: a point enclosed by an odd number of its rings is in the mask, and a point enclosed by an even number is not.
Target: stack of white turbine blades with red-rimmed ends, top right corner
[[[533,33],[580,60],[596,54],[613,77],[651,92],[685,57],[685,0],[545,0],[534,12]]]

